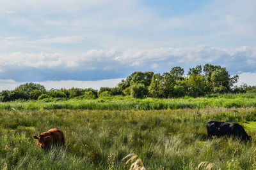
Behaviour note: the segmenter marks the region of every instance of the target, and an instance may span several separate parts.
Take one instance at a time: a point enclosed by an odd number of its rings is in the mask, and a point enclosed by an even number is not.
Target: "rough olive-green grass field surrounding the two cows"
[[[252,136],[209,141],[209,120],[239,122]],[[221,169],[256,168],[256,108],[177,110],[0,111],[0,169],[129,169],[129,153],[147,169],[196,169],[209,161]],[[44,152],[33,135],[63,130],[66,145]],[[115,159],[108,162],[109,154]]]

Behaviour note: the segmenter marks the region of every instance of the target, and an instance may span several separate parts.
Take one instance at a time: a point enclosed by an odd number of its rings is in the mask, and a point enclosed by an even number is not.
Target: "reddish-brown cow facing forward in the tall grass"
[[[40,148],[49,148],[51,145],[65,145],[65,138],[63,132],[58,128],[50,129],[47,132],[43,132],[38,137],[33,136],[34,139],[38,139],[37,145]]]

